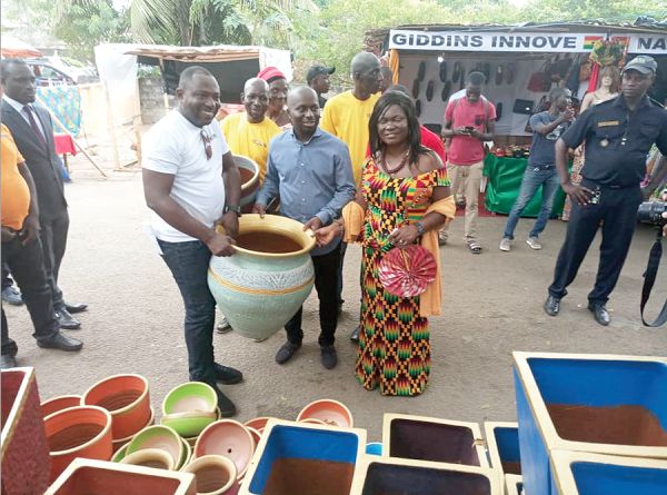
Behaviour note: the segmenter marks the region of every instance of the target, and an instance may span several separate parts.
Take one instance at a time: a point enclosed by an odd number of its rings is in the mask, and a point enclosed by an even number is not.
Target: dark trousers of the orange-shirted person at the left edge
[[[43,263],[39,239],[27,246],[23,246],[18,237],[2,242],[2,264],[7,264],[23,294],[23,301],[34,327],[32,336],[38,340],[49,339],[60,329],[53,317],[53,297],[47,283]],[[17,350],[17,344],[9,338],[7,318],[2,309],[2,354],[16,356]]]

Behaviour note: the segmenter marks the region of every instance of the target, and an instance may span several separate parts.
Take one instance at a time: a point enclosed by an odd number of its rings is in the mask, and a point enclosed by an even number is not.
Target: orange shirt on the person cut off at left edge
[[[14,230],[23,228],[30,211],[30,189],[19,171],[23,157],[4,123],[1,126],[2,141],[2,226]]]

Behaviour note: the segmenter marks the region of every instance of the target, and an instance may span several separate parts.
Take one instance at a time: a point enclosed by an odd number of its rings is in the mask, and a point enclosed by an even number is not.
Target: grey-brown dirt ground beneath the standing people
[[[140,172],[110,171],[103,180],[81,159],[71,164],[73,182],[66,187],[71,227],[60,285],[67,300],[90,305],[78,315],[82,329],[70,331],[84,346],[76,354],[38,348],[26,309],[8,307],[19,365],[37,368],[42,399],[81,394],[108,375],[139,373],[150,383],[151,403],[159,416],[167,392],[188,379],[183,309],[169,270],[143,232],[147,210]],[[461,219],[451,228],[450,244],[440,249],[445,297],[442,315],[429,321],[432,372],[422,396],[382,397],[377,390],[365,390],[354,378],[356,347],[348,336],[358,320],[359,249],[350,247],[336,369],[326,370],[319,362],[313,295],[305,305],[305,345],[285,366],[273,362],[285,339],[282,330],[259,344],[233,333],[215,336],[217,360],[245,374],[242,384],[223,388],[237,404],[237,418],[293,419],[307,403],[330,397],[348,405],[355,426],[367,428],[369,440],[380,440],[384,413],[480,423],[515,420],[512,350],[667,355],[667,327],[643,327],[638,309],[654,230],[638,228],[608,305],[611,325],[601,327],[586,309],[599,239],[564,299],[561,314],[552,318],[541,305],[566,225],[549,221],[544,249],[534,251],[524,242],[531,220],[524,219],[516,247],[507,254],[498,250],[505,219],[480,219],[485,247],[480,256],[468,253],[460,240]],[[661,265],[649,309],[653,317],[667,294],[667,263]]]

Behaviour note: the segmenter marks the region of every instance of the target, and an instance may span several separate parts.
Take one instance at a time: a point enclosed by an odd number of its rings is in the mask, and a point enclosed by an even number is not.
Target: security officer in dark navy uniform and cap
[[[556,167],[563,190],[573,200],[573,210],[544,305],[549,316],[558,315],[560,299],[603,222],[600,263],[595,287],[588,294],[588,309],[598,324],[609,325],[605,305],[633,240],[646,156],[654,142],[667,155],[667,111],[651,105],[646,96],[657,67],[651,57],[635,57],[623,69],[621,95],[581,113],[556,142]],[[584,179],[576,185],[569,180],[567,150],[584,141]]]

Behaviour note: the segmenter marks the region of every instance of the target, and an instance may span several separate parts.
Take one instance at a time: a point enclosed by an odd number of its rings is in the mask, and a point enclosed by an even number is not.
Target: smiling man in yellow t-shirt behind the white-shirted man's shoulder
[[[266,118],[269,107],[269,85],[252,78],[246,81],[241,101],[246,111],[225,117],[220,126],[232,155],[242,155],[259,166],[259,181],[267,174],[269,141],[282,132],[271,119]]]

